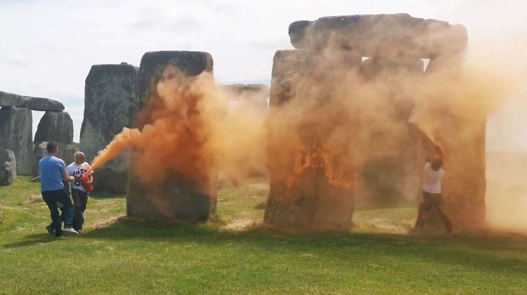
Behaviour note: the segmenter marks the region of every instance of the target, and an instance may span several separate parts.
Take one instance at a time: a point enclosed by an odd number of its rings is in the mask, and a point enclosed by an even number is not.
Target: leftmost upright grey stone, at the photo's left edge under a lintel
[[[12,150],[16,158],[16,173],[31,174],[33,150],[33,117],[24,107],[0,108],[0,150]]]

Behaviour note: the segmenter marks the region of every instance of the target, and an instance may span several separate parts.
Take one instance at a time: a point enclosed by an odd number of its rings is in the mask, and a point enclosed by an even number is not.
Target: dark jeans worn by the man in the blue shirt
[[[73,220],[73,204],[70,196],[63,189],[47,190],[42,192],[42,199],[46,202],[47,208],[50,208],[51,223],[55,232],[60,232],[62,227],[61,216],[58,215],[58,206],[62,205],[62,215],[64,216],[64,228],[71,227]],[[59,203],[59,204],[57,204]]]

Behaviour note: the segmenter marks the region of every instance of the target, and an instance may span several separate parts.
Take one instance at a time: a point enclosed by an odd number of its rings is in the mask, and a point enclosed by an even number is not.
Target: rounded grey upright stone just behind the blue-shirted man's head
[[[48,110],[38,123],[35,146],[53,141],[58,146],[58,158],[64,159],[66,148],[73,144],[73,120],[66,111]]]

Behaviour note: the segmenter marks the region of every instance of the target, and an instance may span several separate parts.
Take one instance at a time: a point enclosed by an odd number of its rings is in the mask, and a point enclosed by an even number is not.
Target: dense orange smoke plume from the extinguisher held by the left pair
[[[230,109],[234,99],[216,87],[211,73],[188,77],[168,66],[135,118],[137,128],[116,135],[92,169],[132,148],[131,172],[153,185],[173,173],[198,180],[219,169],[235,178],[265,170],[263,114]]]

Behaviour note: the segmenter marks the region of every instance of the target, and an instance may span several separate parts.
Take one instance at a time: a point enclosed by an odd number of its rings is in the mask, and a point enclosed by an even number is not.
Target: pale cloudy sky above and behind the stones
[[[287,30],[300,19],[408,13],[461,23],[467,27],[469,46],[479,44],[490,52],[500,48],[500,38],[525,39],[525,8],[520,0],[0,0],[0,90],[62,101],[78,142],[84,80],[94,64],[139,66],[141,56],[149,51],[206,51],[214,59],[218,83],[269,84],[272,57],[276,50],[293,48]],[[527,46],[524,41],[520,44]],[[513,49],[496,54],[525,63],[523,48]],[[506,104],[489,119],[487,148],[527,151],[522,99]],[[35,132],[43,112],[33,113]]]

